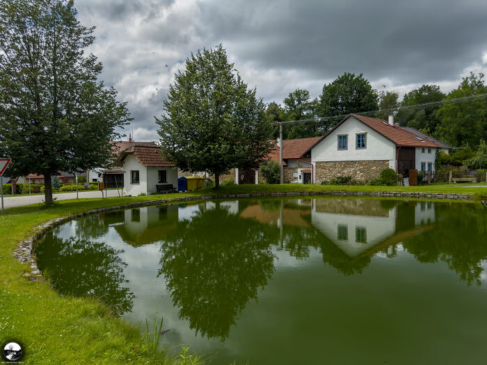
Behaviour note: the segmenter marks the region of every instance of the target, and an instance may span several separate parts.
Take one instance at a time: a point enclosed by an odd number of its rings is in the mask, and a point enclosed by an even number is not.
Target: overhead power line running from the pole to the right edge
[[[455,99],[445,99],[445,100],[440,100],[438,102],[428,102],[428,103],[423,103],[423,104],[397,106],[395,108],[383,109],[383,110],[378,110],[378,111],[363,111],[363,112],[358,112],[358,113],[353,113],[353,114],[358,114],[358,115],[363,115],[364,117],[368,117],[368,116],[376,115],[376,114],[392,114],[392,113],[397,113],[398,111],[414,111],[417,109],[433,108],[435,106],[442,106],[442,105],[448,105],[448,104],[475,102],[475,101],[481,100],[481,99],[487,99],[487,93],[470,95],[470,96],[466,96],[466,97],[457,97]],[[274,122],[274,124],[328,122],[331,120],[342,120],[344,117],[346,117],[348,115],[350,115],[350,114],[333,115],[331,117],[313,117],[313,118],[301,119],[301,120],[285,120],[283,122]]]

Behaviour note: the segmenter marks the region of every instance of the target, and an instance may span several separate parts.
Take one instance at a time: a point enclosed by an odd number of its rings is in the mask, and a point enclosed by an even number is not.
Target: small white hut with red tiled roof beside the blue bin
[[[177,168],[162,158],[161,147],[138,145],[122,151],[117,160],[124,174],[124,195],[155,194],[158,186],[166,190],[171,185],[177,189]]]

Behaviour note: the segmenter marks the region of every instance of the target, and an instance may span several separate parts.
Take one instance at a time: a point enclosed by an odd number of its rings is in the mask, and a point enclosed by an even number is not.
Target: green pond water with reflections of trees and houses
[[[72,220],[36,254],[211,364],[486,364],[486,235],[480,204],[218,200]]]

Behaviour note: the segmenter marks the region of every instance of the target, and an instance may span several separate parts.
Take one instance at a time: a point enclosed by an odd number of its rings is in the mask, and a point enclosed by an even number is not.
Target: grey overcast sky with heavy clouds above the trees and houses
[[[485,0],[78,0],[102,79],[128,103],[136,140],[158,140],[154,115],[186,57],[222,43],[265,102],[296,88],[318,97],[344,72],[401,95],[452,90],[487,71]],[[166,67],[167,65],[167,67]],[[487,73],[487,72],[486,72]],[[385,89],[383,88],[385,85]]]

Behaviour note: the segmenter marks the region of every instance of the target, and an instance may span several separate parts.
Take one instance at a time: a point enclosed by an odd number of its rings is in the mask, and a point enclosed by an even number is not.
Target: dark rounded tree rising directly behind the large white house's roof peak
[[[376,111],[378,109],[377,98],[376,90],[372,88],[367,79],[364,79],[362,74],[356,76],[345,72],[328,85],[323,86],[317,113],[320,117],[331,117],[361,111]],[[337,121],[325,122],[322,127],[327,131],[336,123]]]

